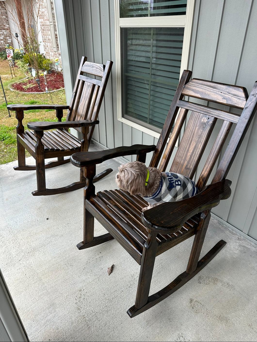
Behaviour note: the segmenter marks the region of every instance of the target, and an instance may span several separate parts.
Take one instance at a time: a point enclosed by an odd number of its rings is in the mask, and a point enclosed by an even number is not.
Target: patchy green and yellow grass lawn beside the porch
[[[9,62],[0,60],[0,76],[8,104],[54,104],[66,105],[65,90],[59,90],[51,93],[29,94],[10,90],[12,83],[23,79],[23,71],[14,68],[15,77],[11,76]],[[6,107],[2,87],[0,87],[0,164],[5,164],[17,160],[16,126],[17,119],[15,111],[10,111],[11,117]],[[63,113],[63,120],[66,119],[66,111]],[[27,129],[27,123],[30,121],[57,121],[55,110],[26,110],[24,111],[23,126]],[[26,157],[30,154],[26,152]]]

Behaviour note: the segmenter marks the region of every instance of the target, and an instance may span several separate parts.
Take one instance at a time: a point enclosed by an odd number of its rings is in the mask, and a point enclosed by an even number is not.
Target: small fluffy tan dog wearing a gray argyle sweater
[[[175,202],[192,197],[198,190],[195,183],[178,173],[146,168],[140,161],[128,162],[118,168],[116,183],[131,195],[141,195],[149,203],[145,211],[163,202]]]

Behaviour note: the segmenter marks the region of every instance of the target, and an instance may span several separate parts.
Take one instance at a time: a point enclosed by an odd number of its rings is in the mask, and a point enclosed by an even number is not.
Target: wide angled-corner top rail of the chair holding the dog
[[[248,98],[246,88],[193,78],[185,84],[182,94],[234,108],[243,109]]]

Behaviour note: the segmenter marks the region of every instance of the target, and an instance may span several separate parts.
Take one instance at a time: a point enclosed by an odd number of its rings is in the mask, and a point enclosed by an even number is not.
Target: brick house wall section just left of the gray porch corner
[[[49,7],[47,6],[47,1],[49,2]],[[51,13],[48,13],[48,8],[51,7]],[[50,16],[50,19],[49,19]],[[51,18],[52,16],[52,18]],[[50,22],[52,20],[52,22]],[[59,41],[57,36],[56,20],[54,13],[53,0],[42,0],[40,4],[39,12],[39,24],[40,32],[42,35],[42,43],[44,47],[44,55],[46,58],[55,59],[59,58],[61,61],[61,52],[59,48]],[[50,25],[52,25],[53,32],[51,34]],[[55,48],[53,44],[52,37],[55,39]]]

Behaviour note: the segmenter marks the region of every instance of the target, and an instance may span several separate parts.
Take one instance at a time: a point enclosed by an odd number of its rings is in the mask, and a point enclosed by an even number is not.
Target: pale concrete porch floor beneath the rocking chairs
[[[15,165],[0,166],[0,268],[30,341],[257,341],[252,242],[211,219],[201,256],[220,239],[227,245],[173,295],[130,319],[140,266],[115,240],[77,249],[83,189],[34,197],[36,172],[14,171]],[[97,172],[114,169],[95,183],[97,191],[116,188],[119,165],[97,166]],[[48,169],[46,179],[48,188],[65,186],[79,179],[79,169]],[[96,232],[106,232],[97,221]],[[150,294],[185,270],[192,241],[156,258]]]

